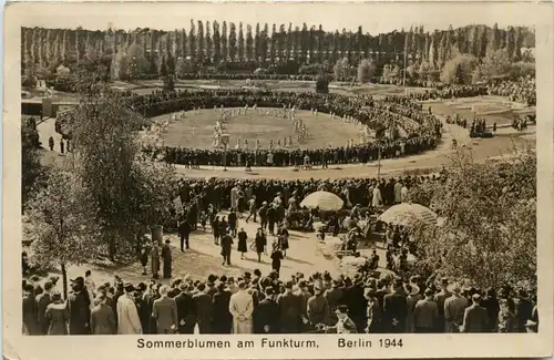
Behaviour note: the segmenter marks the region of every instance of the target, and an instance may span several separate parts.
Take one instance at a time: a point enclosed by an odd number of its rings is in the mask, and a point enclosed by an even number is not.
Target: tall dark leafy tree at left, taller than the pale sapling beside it
[[[143,152],[138,130],[146,123],[121,92],[104,85],[84,96],[71,122],[73,174],[82,204],[93,210],[90,226],[111,260],[134,254],[137,235],[170,216],[174,171]]]

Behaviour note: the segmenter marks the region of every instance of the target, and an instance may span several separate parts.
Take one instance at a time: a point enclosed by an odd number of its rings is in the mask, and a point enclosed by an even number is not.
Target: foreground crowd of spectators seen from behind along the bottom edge
[[[23,282],[28,335],[536,332],[536,296],[524,288],[479,289],[448,278],[359,271],[283,279],[256,269],[99,287],[72,280],[63,299],[48,280]]]

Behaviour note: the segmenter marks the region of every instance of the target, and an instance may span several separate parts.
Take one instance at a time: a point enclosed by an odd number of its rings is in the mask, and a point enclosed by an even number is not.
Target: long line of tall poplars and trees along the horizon
[[[223,21],[191,20],[188,30],[154,29],[84,30],[22,28],[22,75],[48,78],[63,64],[102,62],[112,79],[160,78],[192,72],[253,72],[264,68],[273,73],[298,73],[301,65],[318,64],[328,73],[341,61],[357,66],[373,62],[422,64],[440,71],[456,54],[483,59],[503,50],[510,61],[525,58],[522,49],[534,48],[534,32],[527,28],[499,29],[468,25],[432,32],[423,27],[371,35],[357,31],[325,31],[321,25],[288,28],[285,24],[255,25]],[[115,71],[113,68],[116,68]],[[306,68],[304,68],[306,70]],[[309,69],[309,68],[308,68]],[[367,69],[367,66],[365,66]],[[312,70],[312,69],[311,69]],[[319,71],[318,70],[318,71]],[[356,73],[356,70],[352,70]]]

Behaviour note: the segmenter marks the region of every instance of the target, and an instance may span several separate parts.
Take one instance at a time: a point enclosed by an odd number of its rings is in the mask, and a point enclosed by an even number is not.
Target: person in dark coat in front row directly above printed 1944
[[[394,281],[392,292],[383,298],[383,326],[387,333],[401,333],[406,331],[406,317],[408,304],[406,295],[401,292],[402,280]]]

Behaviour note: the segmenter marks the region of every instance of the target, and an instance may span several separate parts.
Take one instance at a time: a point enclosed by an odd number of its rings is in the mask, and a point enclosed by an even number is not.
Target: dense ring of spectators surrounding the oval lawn
[[[132,96],[133,106],[148,116],[182,110],[212,107],[295,107],[334,116],[357,119],[373,131],[390,130],[391,136],[383,136],[373,143],[347,144],[339,147],[319,150],[257,148],[197,150],[188,147],[165,147],[165,158],[172,164],[186,166],[294,166],[305,163],[327,166],[328,164],[367,163],[381,157],[398,157],[434,148],[441,136],[441,123],[432,114],[423,111],[413,101],[391,97],[375,100],[371,96],[345,96],[338,94],[270,92],[250,90],[179,91],[176,93],[154,93]],[[399,137],[398,126],[403,127],[406,137]],[[396,135],[396,136],[394,136]],[[152,150],[158,151],[158,150]],[[227,164],[224,164],[224,158]]]

